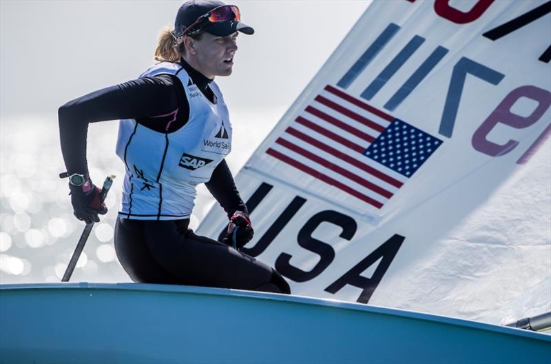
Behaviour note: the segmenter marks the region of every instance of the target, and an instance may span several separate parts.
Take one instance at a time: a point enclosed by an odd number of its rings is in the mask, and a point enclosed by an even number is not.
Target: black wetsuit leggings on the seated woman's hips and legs
[[[290,293],[281,274],[252,256],[194,234],[189,219],[170,221],[118,218],[118,261],[138,283],[201,285]]]

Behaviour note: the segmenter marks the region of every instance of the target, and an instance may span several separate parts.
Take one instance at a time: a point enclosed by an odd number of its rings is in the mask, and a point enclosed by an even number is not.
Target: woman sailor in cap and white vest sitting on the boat
[[[61,150],[74,214],[90,223],[107,209],[88,175],[88,123],[121,119],[116,153],[125,163],[114,243],[135,282],[290,293],[273,268],[242,247],[253,228],[225,161],[231,123],[216,76],[229,76],[238,33],[253,34],[236,6],[191,0],[156,60],[138,79],[87,94],[59,109]],[[196,186],[205,183],[229,217],[227,243],[188,228]],[[234,231],[235,229],[235,231]]]

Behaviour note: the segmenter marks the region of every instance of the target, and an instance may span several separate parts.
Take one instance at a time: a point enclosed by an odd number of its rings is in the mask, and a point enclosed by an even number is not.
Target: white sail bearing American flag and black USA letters
[[[495,323],[549,311],[550,12],[374,1],[236,176],[244,251],[293,294]],[[198,233],[226,224],[216,207]]]

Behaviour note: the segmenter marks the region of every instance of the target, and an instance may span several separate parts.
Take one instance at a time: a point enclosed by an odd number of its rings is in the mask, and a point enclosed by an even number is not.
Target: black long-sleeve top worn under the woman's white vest
[[[210,101],[214,92],[209,88],[211,79],[180,61],[189,77]],[[176,114],[169,123],[158,115]],[[168,117],[167,117],[168,118]],[[59,108],[61,151],[69,174],[87,174],[86,136],[88,123],[97,121],[135,119],[141,125],[157,132],[176,132],[189,119],[189,103],[178,77],[159,74],[120,83],[74,99]],[[207,189],[229,216],[236,210],[247,211],[239,196],[231,172],[222,160],[212,173]]]

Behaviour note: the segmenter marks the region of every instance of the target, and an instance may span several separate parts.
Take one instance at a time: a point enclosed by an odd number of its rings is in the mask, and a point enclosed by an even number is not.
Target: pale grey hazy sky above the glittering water
[[[256,32],[241,34],[233,74],[217,79],[230,110],[288,108],[369,2],[235,1]],[[55,116],[71,99],[138,77],[181,2],[0,4],[0,112],[17,117]]]

